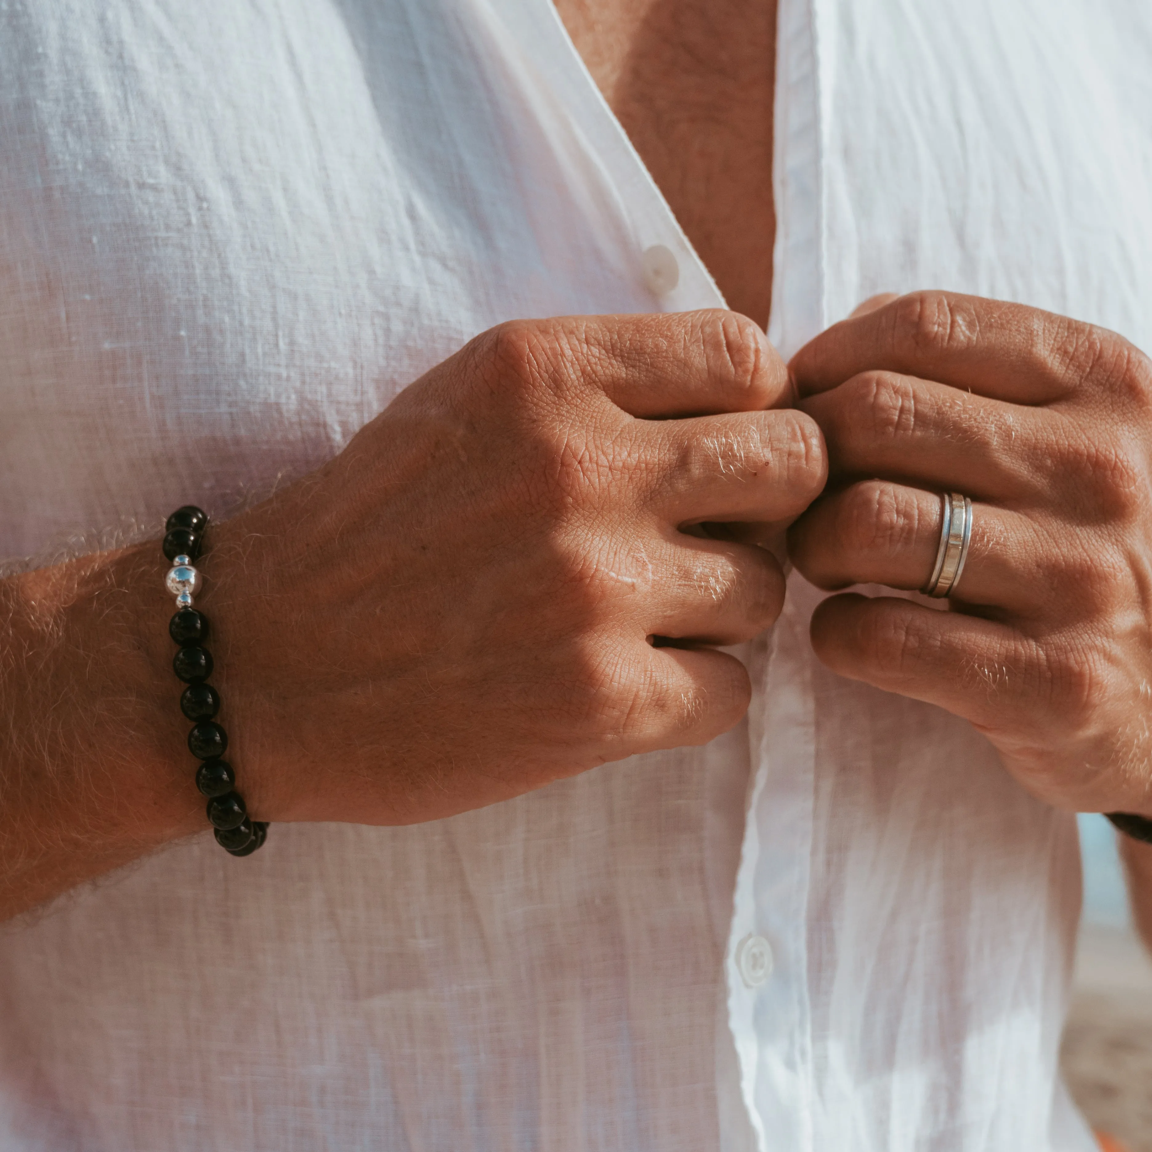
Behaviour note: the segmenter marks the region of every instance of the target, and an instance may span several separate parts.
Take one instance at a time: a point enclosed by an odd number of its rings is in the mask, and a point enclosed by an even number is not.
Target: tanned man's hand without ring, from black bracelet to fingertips
[[[199,600],[250,810],[408,824],[732,727],[767,551],[824,446],[730,312],[501,325],[210,529]],[[162,621],[158,621],[162,629]]]

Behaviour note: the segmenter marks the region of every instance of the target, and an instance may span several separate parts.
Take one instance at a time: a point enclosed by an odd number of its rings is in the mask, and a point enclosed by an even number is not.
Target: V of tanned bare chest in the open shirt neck
[[[772,301],[775,0],[555,0],[730,308]]]

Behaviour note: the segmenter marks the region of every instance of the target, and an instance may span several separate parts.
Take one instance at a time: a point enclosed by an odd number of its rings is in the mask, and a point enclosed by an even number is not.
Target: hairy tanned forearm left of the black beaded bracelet
[[[156,544],[0,582],[0,918],[203,826]]]

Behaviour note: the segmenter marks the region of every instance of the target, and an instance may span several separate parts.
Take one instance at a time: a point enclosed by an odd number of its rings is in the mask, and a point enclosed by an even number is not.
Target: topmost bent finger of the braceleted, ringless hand
[[[794,399],[788,370],[753,320],[710,309],[577,317],[568,370],[631,416],[758,411]]]

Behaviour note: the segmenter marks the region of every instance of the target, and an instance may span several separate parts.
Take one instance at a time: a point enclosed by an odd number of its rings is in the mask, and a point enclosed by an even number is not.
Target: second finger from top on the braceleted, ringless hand
[[[820,430],[795,409],[670,420],[637,434],[653,441],[652,502],[673,525],[789,520],[827,477]]]

